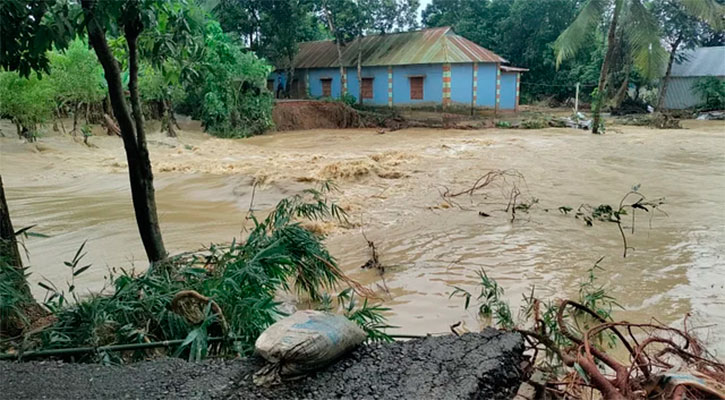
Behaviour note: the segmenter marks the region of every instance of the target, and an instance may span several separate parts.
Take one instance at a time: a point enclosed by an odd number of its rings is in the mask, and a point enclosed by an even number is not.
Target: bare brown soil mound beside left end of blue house
[[[352,108],[332,101],[283,100],[272,111],[278,131],[338,129],[360,126],[360,116]]]

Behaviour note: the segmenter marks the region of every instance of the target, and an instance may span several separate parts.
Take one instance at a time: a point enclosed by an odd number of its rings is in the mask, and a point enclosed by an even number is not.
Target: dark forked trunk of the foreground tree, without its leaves
[[[138,103],[138,59],[136,54],[136,39],[141,31],[138,21],[126,25],[126,41],[129,47],[129,91],[134,109],[136,126],[128,110],[123,84],[121,83],[121,72],[118,63],[113,58],[113,53],[108,47],[106,33],[101,25],[94,18],[93,0],[82,0],[83,10],[88,25],[88,39],[98,56],[98,61],[103,67],[106,82],[108,83],[108,95],[111,100],[111,107],[118,121],[123,145],[128,161],[128,173],[131,183],[131,198],[136,214],[136,225],[141,234],[146,255],[151,262],[162,260],[166,257],[166,250],[161,237],[158,216],[156,214],[156,196],[153,186],[153,174],[151,172],[151,161],[146,149],[146,137],[143,131],[143,117]],[[129,33],[131,36],[129,37]]]

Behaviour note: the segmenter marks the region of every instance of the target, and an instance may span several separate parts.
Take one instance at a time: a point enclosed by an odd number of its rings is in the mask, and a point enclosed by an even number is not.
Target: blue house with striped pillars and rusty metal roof
[[[358,47],[359,46],[359,47]],[[357,58],[362,50],[362,79]],[[371,105],[465,105],[516,110],[525,68],[508,61],[450,27],[371,35],[342,49],[340,76],[335,42],[300,43],[294,60],[292,96],[339,98],[349,93]],[[277,89],[278,70],[269,77]]]

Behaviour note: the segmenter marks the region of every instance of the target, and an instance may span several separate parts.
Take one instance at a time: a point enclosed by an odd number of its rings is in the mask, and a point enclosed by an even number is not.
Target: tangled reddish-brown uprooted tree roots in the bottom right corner
[[[579,399],[593,389],[606,400],[725,398],[725,365],[690,334],[687,319],[683,329],[660,323],[611,322],[583,304],[563,300],[558,306],[556,327],[571,344],[561,346],[554,343],[551,332],[539,319],[539,304],[534,305],[535,330],[518,331],[525,336],[534,360],[543,346],[569,368],[563,378],[543,388],[549,394]],[[567,314],[567,310],[574,312]],[[567,319],[578,315],[586,315],[597,324],[575,334],[570,328],[572,321]],[[595,343],[605,332],[613,334],[626,349],[628,363],[615,359]]]

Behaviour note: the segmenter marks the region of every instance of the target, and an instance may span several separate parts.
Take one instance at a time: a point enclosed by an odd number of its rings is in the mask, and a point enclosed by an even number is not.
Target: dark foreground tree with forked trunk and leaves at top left
[[[141,240],[151,262],[166,257],[161,237],[151,161],[146,147],[143,115],[138,94],[138,43],[145,26],[155,23],[161,0],[96,1],[5,0],[0,8],[3,51],[0,64],[25,75],[48,67],[46,51],[62,49],[77,33],[86,31],[103,71],[113,112],[123,138],[128,161],[131,198]],[[106,31],[119,32],[128,46],[131,110],[121,83],[121,71],[108,45]],[[5,57],[6,43],[12,52]]]

